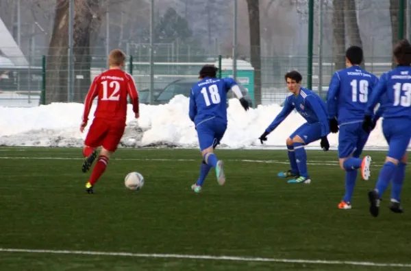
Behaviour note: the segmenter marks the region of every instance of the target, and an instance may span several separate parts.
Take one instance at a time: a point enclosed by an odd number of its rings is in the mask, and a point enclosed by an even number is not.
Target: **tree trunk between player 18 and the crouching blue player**
[[[247,0],[249,12],[251,65],[254,68],[255,106],[261,104],[260,0]]]

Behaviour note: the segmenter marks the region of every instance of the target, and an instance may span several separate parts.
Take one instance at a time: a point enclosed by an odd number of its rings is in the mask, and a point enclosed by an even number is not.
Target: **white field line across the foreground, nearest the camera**
[[[375,263],[372,261],[327,261],[310,259],[277,259],[262,257],[237,257],[237,256],[211,256],[211,255],[182,255],[182,254],[149,254],[132,252],[101,252],[83,250],[40,250],[40,249],[20,249],[20,248],[0,248],[0,252],[26,252],[26,253],[48,253],[48,254],[67,254],[67,255],[103,255],[103,256],[123,256],[123,257],[144,257],[144,258],[176,258],[176,259],[202,259],[216,261],[266,261],[276,263],[310,263],[310,264],[329,264],[344,266],[382,266],[411,268],[411,263]]]

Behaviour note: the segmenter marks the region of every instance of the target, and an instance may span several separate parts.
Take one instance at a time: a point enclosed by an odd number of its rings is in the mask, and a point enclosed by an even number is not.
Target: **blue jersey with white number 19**
[[[366,103],[371,97],[378,78],[359,66],[334,73],[327,93],[329,119],[338,118],[338,124],[361,122]]]

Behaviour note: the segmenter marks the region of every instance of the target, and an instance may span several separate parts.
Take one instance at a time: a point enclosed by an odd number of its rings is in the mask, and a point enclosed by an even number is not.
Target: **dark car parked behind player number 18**
[[[157,99],[155,99],[155,104],[166,104],[168,103],[175,95],[182,94],[186,97],[190,97],[190,90],[191,87],[197,83],[199,79],[192,78],[192,79],[180,79],[172,82],[168,86],[164,88],[164,90],[158,95]],[[240,87],[242,95],[247,99],[249,102],[249,106],[252,107],[252,99],[248,95],[247,89],[245,89],[242,84],[238,83]]]

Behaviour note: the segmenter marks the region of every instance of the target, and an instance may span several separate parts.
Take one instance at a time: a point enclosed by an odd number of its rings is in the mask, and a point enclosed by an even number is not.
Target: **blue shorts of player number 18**
[[[199,145],[201,152],[210,148],[216,148],[219,145],[225,130],[227,130],[227,121],[218,118],[209,119],[201,122],[196,126],[197,135],[199,137]]]

